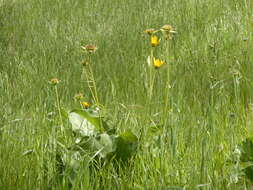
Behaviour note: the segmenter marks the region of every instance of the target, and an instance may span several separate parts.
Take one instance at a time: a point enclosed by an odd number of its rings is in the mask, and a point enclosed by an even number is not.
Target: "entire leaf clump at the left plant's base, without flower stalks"
[[[66,114],[65,114],[66,115]],[[137,150],[138,138],[131,131],[116,134],[95,109],[74,109],[67,113],[73,144],[58,150],[61,175],[71,184],[80,169],[89,168],[93,161],[126,163]]]

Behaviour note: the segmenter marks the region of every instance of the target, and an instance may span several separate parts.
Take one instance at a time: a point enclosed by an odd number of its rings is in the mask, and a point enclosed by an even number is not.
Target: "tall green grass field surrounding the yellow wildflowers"
[[[165,24],[177,33],[159,36],[166,65],[150,96],[143,31]],[[79,107],[79,92],[94,104],[85,44],[98,47],[91,67],[106,119],[136,134],[138,148],[122,167],[84,164],[70,186],[67,175],[55,179],[62,136],[48,81],[60,80],[66,110]],[[1,0],[0,58],[0,190],[253,189],[231,162],[253,135],[252,0]],[[63,127],[67,146],[74,137]]]

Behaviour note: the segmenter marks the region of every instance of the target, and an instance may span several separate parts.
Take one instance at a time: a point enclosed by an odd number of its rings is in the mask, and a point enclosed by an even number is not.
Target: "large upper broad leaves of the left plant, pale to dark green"
[[[69,120],[73,132],[79,133],[75,140],[76,146],[83,151],[93,152],[101,158],[110,155],[124,160],[129,159],[136,151],[138,139],[131,131],[109,135],[106,132],[108,125],[101,117],[91,115],[85,110],[72,110],[69,112]]]

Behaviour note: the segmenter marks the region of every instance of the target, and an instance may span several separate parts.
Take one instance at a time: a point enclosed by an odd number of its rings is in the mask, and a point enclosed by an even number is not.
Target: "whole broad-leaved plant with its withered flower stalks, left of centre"
[[[114,162],[114,160],[117,164],[123,164],[133,158],[138,145],[138,137],[134,133],[128,130],[118,134],[116,128],[104,119],[106,112],[99,103],[95,75],[92,70],[94,61],[92,56],[98,48],[90,44],[81,46],[81,48],[84,50],[81,62],[82,75],[84,75],[85,85],[89,88],[89,91],[85,91],[85,95],[80,92],[74,95],[74,99],[80,104],[81,109],[74,108],[66,111],[62,108],[58,93],[60,81],[57,78],[52,78],[49,81],[56,95],[56,107],[59,115],[56,121],[60,122],[60,130],[56,128],[56,132],[54,132],[54,142],[57,143],[52,151],[57,152],[57,157],[56,154],[53,157],[60,163],[55,165],[55,171],[60,171],[57,172],[57,175],[61,176],[70,171],[71,180],[67,178],[67,183],[71,185],[74,181],[72,179],[78,177],[78,171],[82,169],[84,161],[91,160],[87,163],[89,168],[93,168],[90,167],[95,163],[92,161],[93,159],[101,166],[107,162]],[[91,104],[87,101],[86,94],[92,96],[89,101]],[[64,127],[66,119],[71,124],[70,129],[73,132],[71,138],[67,137],[69,130]],[[60,143],[58,143],[58,139],[60,139]]]

